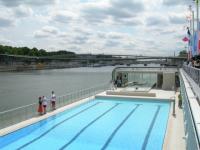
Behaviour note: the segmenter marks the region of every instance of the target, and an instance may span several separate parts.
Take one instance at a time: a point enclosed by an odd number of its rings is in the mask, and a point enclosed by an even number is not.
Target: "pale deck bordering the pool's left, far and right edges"
[[[168,119],[168,125],[167,125],[167,130],[166,130],[166,135],[165,135],[165,140],[163,144],[163,150],[185,150],[186,145],[185,145],[185,135],[184,135],[184,122],[183,122],[183,111],[182,109],[178,108],[178,94],[179,92],[174,92],[174,91],[164,91],[164,90],[157,90],[157,89],[152,89],[148,92],[155,93],[155,97],[153,99],[163,99],[163,100],[170,100],[174,99],[176,100],[176,115],[172,115],[172,107],[170,110],[169,114],[169,119]],[[106,92],[100,93],[97,96],[109,96],[106,94]],[[113,95],[110,95],[113,97]],[[116,97],[127,97],[127,98],[145,98],[148,99],[146,96],[121,96],[121,95],[114,95]],[[37,116],[34,118],[31,118],[29,120],[23,121],[21,123],[18,123],[16,125],[7,127],[5,129],[0,130],[0,136],[4,136],[6,134],[9,134],[11,132],[14,132],[16,130],[19,130],[23,127],[26,127],[28,125],[31,125],[33,123],[36,123],[38,121],[41,121],[43,119],[46,119],[50,116],[53,116],[57,113],[63,112],[67,109],[70,109],[72,107],[75,107],[77,105],[80,105],[82,103],[90,101],[93,97],[89,97],[83,100],[80,100],[78,102],[69,104],[67,106],[61,107],[59,109],[56,109],[55,111],[48,112],[46,115],[42,116]],[[152,99],[152,97],[149,97],[149,99]]]

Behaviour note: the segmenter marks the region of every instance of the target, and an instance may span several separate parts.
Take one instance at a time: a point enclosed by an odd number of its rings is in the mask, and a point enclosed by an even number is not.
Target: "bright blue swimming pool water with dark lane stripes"
[[[170,103],[95,99],[0,137],[0,149],[161,150]]]

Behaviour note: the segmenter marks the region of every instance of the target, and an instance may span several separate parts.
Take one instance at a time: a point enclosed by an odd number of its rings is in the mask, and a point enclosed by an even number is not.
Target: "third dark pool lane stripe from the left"
[[[112,141],[112,139],[115,136],[115,134],[117,133],[117,131],[124,125],[124,123],[136,111],[136,109],[138,109],[138,107],[140,105],[142,105],[142,104],[137,104],[137,106],[134,107],[133,110],[122,120],[122,122],[117,126],[117,128],[115,128],[115,130],[112,132],[112,134],[110,135],[110,137],[108,138],[108,140],[106,141],[106,143],[103,145],[103,147],[101,148],[101,150],[105,150],[107,148],[107,146],[110,144],[110,142]]]

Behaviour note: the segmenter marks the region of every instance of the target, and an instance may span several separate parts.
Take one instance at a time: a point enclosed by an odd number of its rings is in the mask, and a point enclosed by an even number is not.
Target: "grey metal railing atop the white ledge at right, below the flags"
[[[183,69],[200,87],[200,69],[183,65]]]

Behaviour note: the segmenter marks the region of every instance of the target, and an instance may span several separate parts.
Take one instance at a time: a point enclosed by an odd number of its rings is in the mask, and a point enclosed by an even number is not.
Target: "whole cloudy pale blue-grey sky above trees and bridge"
[[[194,5],[192,0],[0,0],[0,44],[172,56],[186,46],[189,4]]]

